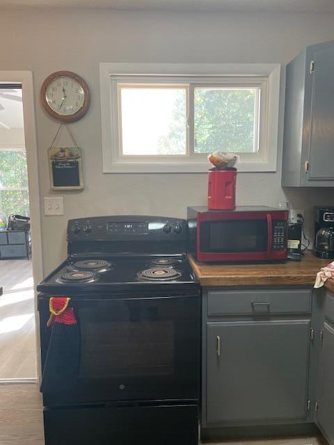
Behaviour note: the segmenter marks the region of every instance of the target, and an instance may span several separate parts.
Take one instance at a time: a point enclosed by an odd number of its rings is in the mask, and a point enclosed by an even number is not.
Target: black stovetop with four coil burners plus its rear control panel
[[[186,220],[96,216],[67,223],[67,260],[37,286],[46,296],[199,289],[186,258]]]

